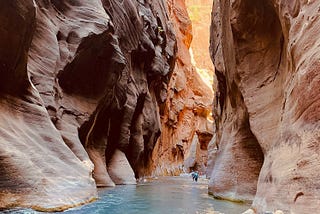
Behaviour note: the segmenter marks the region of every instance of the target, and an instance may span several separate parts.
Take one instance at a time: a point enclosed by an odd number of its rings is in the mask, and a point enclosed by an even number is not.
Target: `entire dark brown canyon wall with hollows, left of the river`
[[[63,210],[135,183],[174,66],[165,2],[8,0],[0,23],[0,208]]]

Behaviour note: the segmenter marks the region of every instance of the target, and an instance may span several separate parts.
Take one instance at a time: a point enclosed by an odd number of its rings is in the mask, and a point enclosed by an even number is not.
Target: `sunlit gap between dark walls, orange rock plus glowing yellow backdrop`
[[[154,175],[208,174],[208,148],[215,149],[209,54],[212,3],[190,0],[169,4],[178,49],[161,118],[162,132],[154,150]]]

